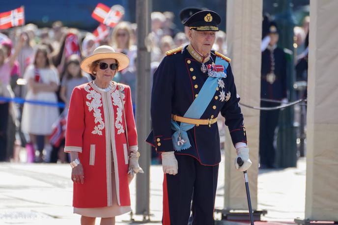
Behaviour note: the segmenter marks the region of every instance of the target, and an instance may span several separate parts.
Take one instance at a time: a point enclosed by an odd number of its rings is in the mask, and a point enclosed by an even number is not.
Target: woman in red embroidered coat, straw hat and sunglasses
[[[74,88],[69,105],[65,152],[71,154],[74,213],[82,225],[112,225],[131,211],[129,183],[139,167],[130,87],[112,81],[128,56],[109,46],[81,63],[95,80]]]

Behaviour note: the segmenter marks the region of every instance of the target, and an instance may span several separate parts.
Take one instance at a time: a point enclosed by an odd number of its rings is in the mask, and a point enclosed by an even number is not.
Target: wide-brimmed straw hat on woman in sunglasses
[[[81,69],[86,72],[90,73],[89,67],[92,62],[99,60],[99,59],[105,59],[105,58],[113,58],[118,61],[118,70],[125,69],[129,64],[129,57],[122,54],[117,53],[114,51],[114,49],[108,45],[102,45],[97,47],[93,54],[90,56],[87,56],[84,58],[84,60],[81,62]]]

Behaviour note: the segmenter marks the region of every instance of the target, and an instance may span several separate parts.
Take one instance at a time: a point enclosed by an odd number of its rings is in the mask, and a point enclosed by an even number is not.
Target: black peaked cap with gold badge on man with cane
[[[192,15],[183,25],[197,31],[218,31],[220,23],[220,15],[214,11],[203,10]]]

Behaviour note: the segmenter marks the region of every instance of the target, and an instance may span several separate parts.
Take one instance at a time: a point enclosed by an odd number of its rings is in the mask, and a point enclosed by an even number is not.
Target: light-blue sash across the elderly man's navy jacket
[[[225,72],[229,63],[217,56],[215,64],[223,65],[224,73],[209,73],[209,77],[203,84],[197,95],[197,98],[191,104],[183,117],[199,119],[213,99],[218,86],[218,80],[226,77]],[[171,129],[175,131],[175,133],[172,135],[172,144],[176,151],[181,151],[182,149],[188,149],[191,147],[187,131],[192,129],[195,125],[196,124],[183,122],[178,125],[176,121],[171,119]]]

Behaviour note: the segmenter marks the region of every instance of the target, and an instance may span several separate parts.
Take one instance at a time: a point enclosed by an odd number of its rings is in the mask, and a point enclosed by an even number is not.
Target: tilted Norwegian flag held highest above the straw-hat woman
[[[123,12],[117,10],[114,6],[109,8],[105,4],[98,3],[91,16],[100,23],[113,28],[122,19]]]

